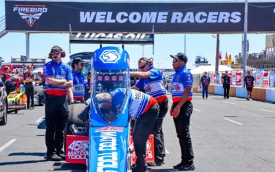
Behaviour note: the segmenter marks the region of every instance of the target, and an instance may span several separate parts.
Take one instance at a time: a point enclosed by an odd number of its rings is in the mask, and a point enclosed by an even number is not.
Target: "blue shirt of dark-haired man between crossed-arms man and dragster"
[[[73,94],[75,100],[80,100],[84,98],[84,76],[81,72],[72,70],[73,80]]]

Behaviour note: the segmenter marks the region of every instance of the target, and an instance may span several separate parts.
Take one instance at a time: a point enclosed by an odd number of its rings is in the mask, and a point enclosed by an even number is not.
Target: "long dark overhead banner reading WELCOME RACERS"
[[[8,32],[243,32],[244,3],[5,1]],[[249,3],[248,31],[275,32],[275,3]]]

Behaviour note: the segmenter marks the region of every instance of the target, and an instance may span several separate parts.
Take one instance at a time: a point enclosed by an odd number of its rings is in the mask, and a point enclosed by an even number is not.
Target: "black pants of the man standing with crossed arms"
[[[64,143],[64,133],[69,116],[67,96],[46,96],[45,121],[46,121],[46,146],[47,155],[61,151]]]

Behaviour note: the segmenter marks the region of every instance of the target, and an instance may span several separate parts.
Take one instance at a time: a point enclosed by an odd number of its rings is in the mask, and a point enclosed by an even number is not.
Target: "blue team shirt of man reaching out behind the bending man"
[[[148,72],[150,78],[140,78],[135,86],[140,89],[145,89],[146,94],[153,96],[153,98],[157,100],[157,103],[162,103],[168,99],[166,90],[162,84],[162,73],[153,66],[148,69]]]

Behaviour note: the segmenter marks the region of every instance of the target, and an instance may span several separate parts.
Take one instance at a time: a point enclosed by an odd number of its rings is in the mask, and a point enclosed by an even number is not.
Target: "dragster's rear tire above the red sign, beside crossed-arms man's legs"
[[[85,109],[84,103],[69,105],[69,117],[64,129],[64,151],[66,152],[66,139],[67,135],[71,135],[72,132],[69,127],[74,124],[76,127],[84,127],[84,122],[78,118],[78,115]]]

